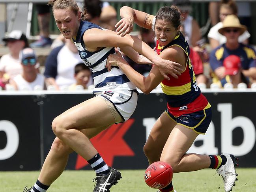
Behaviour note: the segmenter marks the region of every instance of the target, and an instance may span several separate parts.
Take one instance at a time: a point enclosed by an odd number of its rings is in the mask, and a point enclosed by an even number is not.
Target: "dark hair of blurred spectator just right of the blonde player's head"
[[[84,0],[84,7],[86,8],[86,13],[90,14],[92,18],[101,15],[102,2],[100,0]]]

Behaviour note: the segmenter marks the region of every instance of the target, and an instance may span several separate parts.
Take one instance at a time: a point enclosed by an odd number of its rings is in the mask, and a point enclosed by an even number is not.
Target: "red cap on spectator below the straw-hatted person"
[[[239,56],[230,55],[223,61],[225,67],[225,75],[236,75],[241,67],[241,60]]]

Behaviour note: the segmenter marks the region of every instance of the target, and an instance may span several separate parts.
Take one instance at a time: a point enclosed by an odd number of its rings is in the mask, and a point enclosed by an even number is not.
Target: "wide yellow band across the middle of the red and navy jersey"
[[[160,84],[164,94],[166,95],[183,95],[184,93],[191,91],[191,82],[182,86],[174,86],[174,87],[164,85],[162,82]]]

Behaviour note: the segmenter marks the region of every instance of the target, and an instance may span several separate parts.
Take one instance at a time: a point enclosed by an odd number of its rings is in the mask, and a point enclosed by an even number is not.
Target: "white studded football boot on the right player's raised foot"
[[[236,178],[237,173],[235,172],[235,166],[237,166],[235,161],[238,158],[227,153],[223,153],[222,155],[226,156],[227,162],[216,171],[223,178],[225,192],[230,192],[232,191],[232,187],[235,186],[235,181],[238,180]]]

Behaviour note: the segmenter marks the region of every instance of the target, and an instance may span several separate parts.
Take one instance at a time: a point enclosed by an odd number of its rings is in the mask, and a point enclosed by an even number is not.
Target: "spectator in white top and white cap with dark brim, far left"
[[[9,53],[0,58],[0,84],[4,88],[9,79],[22,73],[22,65],[19,60],[19,53],[23,48],[29,47],[28,39],[22,31],[14,30],[5,38]]]

